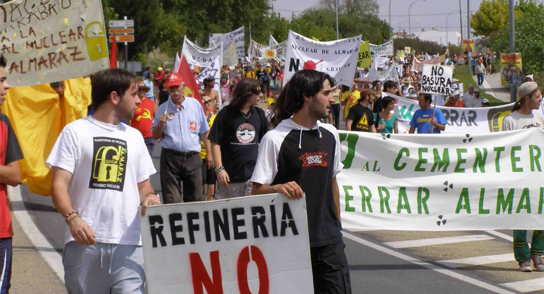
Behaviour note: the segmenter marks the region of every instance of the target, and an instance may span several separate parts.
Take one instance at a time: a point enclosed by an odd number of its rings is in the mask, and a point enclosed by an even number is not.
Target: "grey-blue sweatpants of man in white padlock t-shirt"
[[[70,294],[142,294],[145,285],[141,246],[70,241],[63,253],[64,280]]]

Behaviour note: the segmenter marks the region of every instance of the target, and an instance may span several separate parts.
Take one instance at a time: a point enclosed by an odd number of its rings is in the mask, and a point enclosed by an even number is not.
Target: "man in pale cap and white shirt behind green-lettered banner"
[[[523,83],[517,89],[517,102],[512,113],[504,117],[503,131],[529,128],[544,128],[544,115],[540,108],[542,92],[535,82]],[[514,230],[514,257],[520,265],[520,271],[530,272],[531,260],[535,269],[544,272],[544,230],[534,230],[531,248],[527,244],[527,231]]]

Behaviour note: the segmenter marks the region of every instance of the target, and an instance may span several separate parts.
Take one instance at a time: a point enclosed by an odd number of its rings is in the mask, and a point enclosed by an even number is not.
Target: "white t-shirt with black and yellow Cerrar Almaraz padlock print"
[[[46,164],[72,173],[72,207],[97,242],[141,245],[138,183],[156,170],[137,129],[82,118],[64,127]],[[64,243],[73,240],[66,226]]]

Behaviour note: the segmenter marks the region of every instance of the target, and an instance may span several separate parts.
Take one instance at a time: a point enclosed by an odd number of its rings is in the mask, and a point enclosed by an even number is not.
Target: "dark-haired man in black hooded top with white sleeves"
[[[283,193],[306,200],[315,293],[351,293],[342,240],[336,175],[342,171],[338,131],[321,124],[334,102],[328,74],[300,70],[290,79],[273,109],[251,177],[253,195]],[[238,91],[238,90],[237,90]]]

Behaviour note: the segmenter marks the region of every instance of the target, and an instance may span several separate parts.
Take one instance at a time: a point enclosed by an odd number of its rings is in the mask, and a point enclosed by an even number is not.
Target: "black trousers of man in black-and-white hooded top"
[[[310,247],[313,292],[316,294],[351,294],[348,259],[343,242]]]

